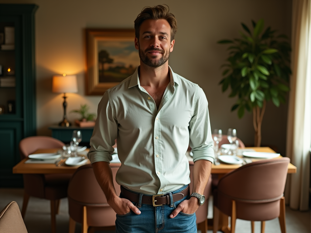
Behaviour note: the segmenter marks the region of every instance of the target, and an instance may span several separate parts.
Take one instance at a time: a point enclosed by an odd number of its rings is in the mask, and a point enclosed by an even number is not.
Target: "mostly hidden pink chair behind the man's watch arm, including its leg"
[[[190,169],[190,194],[192,193],[193,188],[193,161],[189,161],[189,169]],[[201,230],[202,233],[207,232],[207,211],[208,211],[208,198],[211,194],[211,184],[212,184],[212,178],[210,178],[207,181],[207,185],[204,190],[204,196],[205,196],[205,203],[200,206],[196,211],[196,217],[197,217],[197,228],[198,230]]]

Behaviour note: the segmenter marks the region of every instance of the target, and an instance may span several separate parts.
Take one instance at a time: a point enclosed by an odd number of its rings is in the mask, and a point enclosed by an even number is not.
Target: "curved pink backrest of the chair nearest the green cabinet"
[[[32,136],[20,141],[19,150],[21,159],[27,158],[38,149],[62,148],[65,145],[58,139],[47,136]]]

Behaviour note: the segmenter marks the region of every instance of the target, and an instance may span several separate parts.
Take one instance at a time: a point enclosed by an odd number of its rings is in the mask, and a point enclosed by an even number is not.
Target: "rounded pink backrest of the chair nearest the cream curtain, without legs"
[[[289,158],[246,164],[223,176],[218,192],[247,203],[267,203],[283,196]]]

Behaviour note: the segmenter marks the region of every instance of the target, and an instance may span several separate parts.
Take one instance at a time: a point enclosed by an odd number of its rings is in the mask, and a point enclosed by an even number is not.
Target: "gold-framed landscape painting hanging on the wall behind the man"
[[[134,38],[134,29],[86,29],[86,95],[103,95],[135,72]]]

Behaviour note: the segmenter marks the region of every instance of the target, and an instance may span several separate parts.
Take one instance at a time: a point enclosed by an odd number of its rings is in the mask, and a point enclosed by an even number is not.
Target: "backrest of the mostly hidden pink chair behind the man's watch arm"
[[[190,193],[192,193],[192,188],[193,188],[193,161],[189,161],[189,169],[190,169]],[[207,214],[208,214],[208,198],[211,194],[211,184],[212,184],[212,178],[210,178],[207,181],[207,185],[205,186],[205,190],[203,195],[206,198],[205,203],[202,206],[199,206],[199,208],[196,211],[196,216],[197,216],[197,223],[201,223],[207,219]]]

